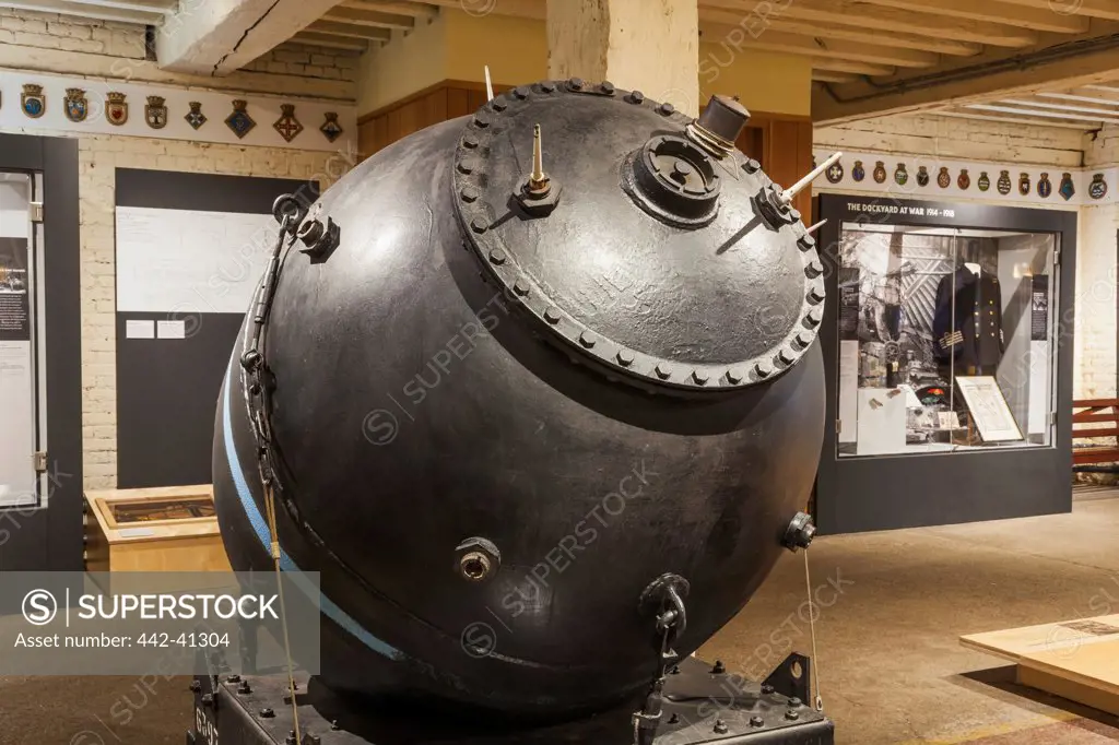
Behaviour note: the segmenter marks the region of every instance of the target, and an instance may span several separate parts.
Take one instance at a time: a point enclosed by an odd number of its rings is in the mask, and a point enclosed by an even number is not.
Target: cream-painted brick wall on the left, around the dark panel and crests
[[[142,26],[0,8],[0,46],[4,44],[119,58],[122,64],[114,69],[120,75],[126,75],[125,70],[137,64],[126,60],[142,60],[145,56]],[[86,74],[81,63],[88,57],[76,54],[74,59],[73,68],[54,72]],[[321,79],[325,84],[352,82],[357,57],[288,44],[254,60],[245,72],[252,73],[246,79],[253,82],[245,93],[283,92],[291,76]],[[18,92],[15,100],[12,95],[4,92],[3,105],[19,105]],[[83,135],[78,153],[85,487],[112,488],[116,485],[115,169],[317,179],[327,186],[357,162],[357,153],[120,135]]]

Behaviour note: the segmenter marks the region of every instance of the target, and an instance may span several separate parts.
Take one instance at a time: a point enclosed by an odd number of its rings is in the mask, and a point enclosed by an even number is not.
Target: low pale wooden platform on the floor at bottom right
[[[1017,662],[1023,686],[1119,715],[1119,615],[969,634],[960,643]]]

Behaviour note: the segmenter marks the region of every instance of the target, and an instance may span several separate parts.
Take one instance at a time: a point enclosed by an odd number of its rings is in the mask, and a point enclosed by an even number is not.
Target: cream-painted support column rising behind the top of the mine
[[[548,75],[610,81],[699,113],[697,0],[547,0]]]

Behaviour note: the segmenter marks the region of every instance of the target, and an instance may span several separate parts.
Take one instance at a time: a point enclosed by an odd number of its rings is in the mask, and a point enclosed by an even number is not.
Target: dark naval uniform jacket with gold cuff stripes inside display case
[[[940,361],[956,358],[957,374],[993,375],[1006,350],[998,280],[988,272],[976,276],[966,266],[942,279],[937,287],[932,339],[933,351]]]

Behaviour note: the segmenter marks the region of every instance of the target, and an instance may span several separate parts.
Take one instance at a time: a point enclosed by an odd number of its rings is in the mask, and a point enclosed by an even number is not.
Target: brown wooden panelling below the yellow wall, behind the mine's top
[[[509,86],[493,87],[500,93]],[[425,126],[472,114],[485,103],[482,84],[443,81],[361,116],[358,148],[363,158],[368,158]],[[737,144],[742,152],[761,162],[770,178],[784,187],[792,186],[812,169],[812,123],[807,116],[753,113]],[[812,214],[810,191],[801,191],[796,200],[806,224]]]

